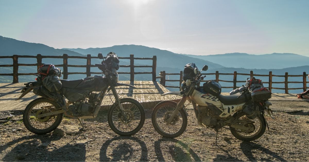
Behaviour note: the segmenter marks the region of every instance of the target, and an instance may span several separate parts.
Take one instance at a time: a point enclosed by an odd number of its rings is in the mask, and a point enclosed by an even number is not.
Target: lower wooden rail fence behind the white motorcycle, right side
[[[303,75],[288,75],[288,73],[285,73],[285,75],[273,75],[271,71],[269,72],[269,75],[253,74],[253,71],[250,71],[250,74],[237,73],[236,71],[234,71],[234,73],[219,73],[218,71],[216,71],[216,73],[201,73],[201,74],[202,75],[215,75],[216,76],[215,81],[217,81],[217,82],[219,82],[219,81],[231,82],[231,83],[233,83],[232,87],[222,87],[222,88],[233,88],[233,89],[238,88],[236,86],[236,83],[246,83],[246,81],[238,81],[237,80],[237,75],[247,75],[247,76],[250,76],[250,77],[255,77],[255,76],[269,77],[269,81],[268,82],[263,81],[263,83],[269,84],[269,87],[266,87],[266,88],[268,88],[270,91],[272,89],[283,89],[283,90],[285,90],[285,93],[289,93],[289,90],[292,90],[292,89],[303,89],[303,91],[306,91],[307,83],[309,83],[307,81],[307,74],[306,74],[306,72],[303,72]],[[179,80],[167,80],[166,79],[167,75],[180,75],[180,77],[179,77]],[[180,85],[182,83],[182,75],[183,75],[182,71],[180,71],[180,73],[166,73],[165,71],[161,71],[160,72],[160,76],[158,76],[157,78],[160,78],[160,84],[162,84],[164,87],[179,88],[180,89]],[[233,81],[220,80],[219,79],[219,75],[233,75],[234,76],[233,77]],[[284,81],[282,81],[282,82],[273,82],[272,81],[273,77],[284,77]],[[288,77],[303,77],[303,81],[288,81]],[[168,85],[166,85],[167,81],[179,82],[179,86],[168,86]],[[205,82],[205,81],[201,81],[201,82]],[[273,87],[272,84],[276,84],[276,83],[281,83],[281,84],[284,83],[284,88]],[[301,88],[289,88],[288,87],[288,83],[303,83],[303,87],[301,87]]]

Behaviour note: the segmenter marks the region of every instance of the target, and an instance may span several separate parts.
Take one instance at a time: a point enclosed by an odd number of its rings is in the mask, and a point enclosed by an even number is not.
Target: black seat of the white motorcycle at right
[[[251,99],[250,93],[241,94],[240,92],[229,96],[219,94],[217,97],[224,105],[237,105]]]

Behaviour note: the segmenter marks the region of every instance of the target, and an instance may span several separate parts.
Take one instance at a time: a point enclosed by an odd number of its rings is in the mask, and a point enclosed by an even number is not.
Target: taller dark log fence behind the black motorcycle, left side
[[[63,56],[42,56],[40,54],[36,56],[27,56],[27,55],[13,55],[13,56],[0,56],[1,58],[12,58],[13,64],[7,64],[7,65],[0,65],[0,67],[13,67],[13,73],[0,73],[0,76],[13,76],[13,83],[18,83],[18,76],[19,75],[34,75],[36,73],[18,73],[18,67],[19,66],[37,66],[37,69],[42,65],[42,59],[43,58],[59,58],[63,59],[63,64],[55,65],[56,67],[63,67],[63,79],[68,79],[68,75],[70,74],[86,74],[87,77],[91,76],[91,74],[101,74],[100,72],[91,72],[91,67],[96,67],[95,65],[91,64],[92,58],[98,58],[93,57],[91,55],[87,56],[68,56],[67,54],[63,54]],[[37,63],[36,64],[19,64],[18,58],[36,58]],[[78,58],[78,59],[86,59],[86,65],[69,65],[68,64],[68,58]],[[105,57],[104,57],[105,58]],[[119,57],[119,59],[129,59],[130,65],[120,65],[120,67],[130,68],[130,72],[119,72],[119,74],[130,74],[130,81],[134,81],[134,74],[152,74],[152,80],[156,80],[156,67],[157,67],[157,56],[153,56],[152,58],[136,58],[133,54],[130,55],[130,57]],[[134,60],[152,60],[151,66],[135,66]],[[68,67],[85,67],[86,72],[68,72]],[[134,68],[152,68],[152,72],[134,72]]]

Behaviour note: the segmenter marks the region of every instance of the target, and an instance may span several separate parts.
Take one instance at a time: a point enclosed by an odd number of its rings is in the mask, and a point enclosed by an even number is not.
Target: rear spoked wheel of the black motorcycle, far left
[[[47,98],[37,98],[30,102],[23,112],[23,123],[32,133],[43,135],[55,130],[61,123],[63,113],[37,118],[38,114],[61,110],[61,107]]]

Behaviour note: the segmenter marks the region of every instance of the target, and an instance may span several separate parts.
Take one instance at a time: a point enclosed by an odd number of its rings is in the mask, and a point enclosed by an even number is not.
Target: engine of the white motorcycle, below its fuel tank
[[[203,126],[215,128],[217,126],[217,118],[212,115],[211,110],[207,106],[197,106],[199,117]]]

